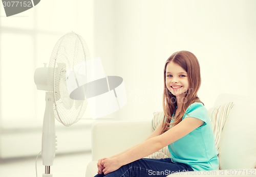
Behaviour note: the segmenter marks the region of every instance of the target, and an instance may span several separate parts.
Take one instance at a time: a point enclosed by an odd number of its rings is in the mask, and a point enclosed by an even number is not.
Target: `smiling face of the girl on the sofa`
[[[169,62],[166,65],[165,84],[176,97],[184,97],[189,88],[187,72],[178,64]]]

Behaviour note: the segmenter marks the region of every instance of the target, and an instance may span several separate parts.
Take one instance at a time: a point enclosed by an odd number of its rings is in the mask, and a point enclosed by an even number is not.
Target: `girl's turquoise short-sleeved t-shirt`
[[[206,108],[202,103],[193,103],[187,108],[182,120],[186,117],[198,118],[204,124],[168,145],[172,161],[187,164],[194,171],[217,170],[218,150]]]

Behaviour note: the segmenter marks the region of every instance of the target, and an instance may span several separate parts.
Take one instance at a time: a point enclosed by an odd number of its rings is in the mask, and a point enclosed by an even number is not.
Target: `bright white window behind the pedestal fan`
[[[1,5],[0,15],[0,127],[41,125],[45,92],[36,89],[34,70],[49,62],[55,43],[68,32],[92,44],[93,1],[41,1],[9,17]]]

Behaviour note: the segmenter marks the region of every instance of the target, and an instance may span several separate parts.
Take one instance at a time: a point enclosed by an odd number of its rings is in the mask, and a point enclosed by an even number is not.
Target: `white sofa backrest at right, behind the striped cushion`
[[[215,106],[233,102],[220,139],[220,169],[254,168],[256,163],[256,100],[221,94]]]

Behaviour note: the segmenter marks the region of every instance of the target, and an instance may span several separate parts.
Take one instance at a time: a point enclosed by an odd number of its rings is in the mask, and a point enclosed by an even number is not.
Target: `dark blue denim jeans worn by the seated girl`
[[[183,163],[173,163],[170,158],[166,159],[139,159],[132,163],[121,166],[116,171],[104,175],[97,174],[94,177],[125,177],[125,176],[167,176],[181,171],[193,171],[193,169]]]

